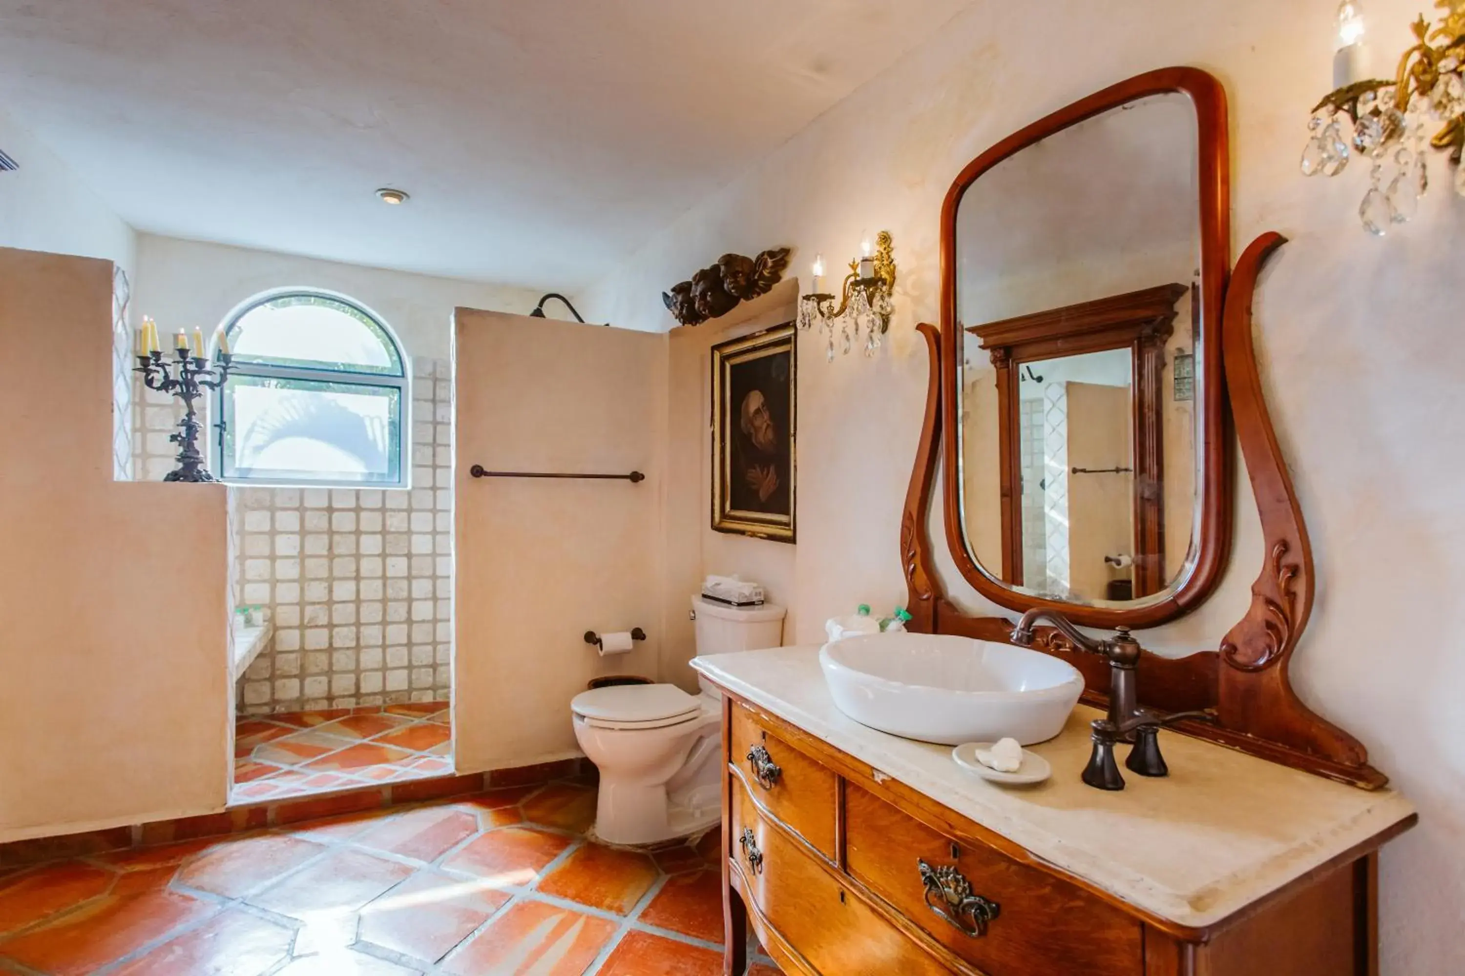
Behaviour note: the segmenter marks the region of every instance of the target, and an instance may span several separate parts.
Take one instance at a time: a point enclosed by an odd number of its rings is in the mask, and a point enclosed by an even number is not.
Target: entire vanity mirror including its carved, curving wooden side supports
[[[1181,616],[1229,562],[1239,442],[1261,522],[1260,552],[1248,553],[1261,562],[1251,603],[1214,647],[1141,651],[1140,704],[1204,708],[1212,721],[1176,729],[1381,786],[1367,749],[1313,713],[1288,679],[1313,609],[1313,555],[1251,316],[1257,277],[1283,237],[1261,234],[1232,269],[1228,186],[1226,97],[1193,67],[1083,98],[1004,139],[952,184],[941,218],[942,320],[917,326],[932,372],[901,515],[908,628],[986,641],[1012,634],[1012,615],[970,613],[948,597],[932,541],[938,495],[957,568],[996,604],[1097,628]],[[1030,401],[1059,397],[1067,430],[1024,426],[1024,411],[1039,411]],[[1046,502],[1050,468],[1068,478],[1062,518],[1036,502],[1024,509],[1027,495]],[[1075,486],[1099,496],[1078,499],[1081,524]],[[1097,578],[1069,569],[1055,585],[1053,533],[1067,534],[1055,549],[1067,544],[1069,563],[1077,552],[1086,571],[1103,556],[1128,559],[1103,563]],[[1083,533],[1108,534],[1091,543]],[[1103,658],[1053,628],[1037,628],[1033,647],[1083,672],[1086,702],[1106,702]]]

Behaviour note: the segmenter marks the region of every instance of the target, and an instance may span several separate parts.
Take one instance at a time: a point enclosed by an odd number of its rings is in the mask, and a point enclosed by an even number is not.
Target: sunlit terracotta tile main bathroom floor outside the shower
[[[0,973],[721,975],[716,831],[620,850],[593,817],[558,781],[38,865],[0,878]]]

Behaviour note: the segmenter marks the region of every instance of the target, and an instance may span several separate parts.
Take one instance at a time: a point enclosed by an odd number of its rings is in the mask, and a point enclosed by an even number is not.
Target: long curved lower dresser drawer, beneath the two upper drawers
[[[734,783],[731,856],[750,910],[826,976],[949,976],[797,841],[763,819]],[[749,843],[743,843],[750,831]]]

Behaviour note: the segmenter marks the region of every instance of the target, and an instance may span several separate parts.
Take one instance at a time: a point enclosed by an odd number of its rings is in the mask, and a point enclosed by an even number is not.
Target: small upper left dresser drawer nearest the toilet
[[[839,790],[834,771],[778,737],[746,705],[732,705],[728,762],[771,817],[834,860]]]

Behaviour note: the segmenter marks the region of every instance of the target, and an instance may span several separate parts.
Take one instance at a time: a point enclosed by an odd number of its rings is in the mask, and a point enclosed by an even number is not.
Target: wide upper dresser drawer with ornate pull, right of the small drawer
[[[845,857],[850,875],[889,901],[936,941],[990,976],[1140,976],[1143,926],[1075,884],[1018,863],[984,844],[957,843],[853,783],[845,784]],[[924,865],[924,868],[921,866]],[[927,903],[939,887],[970,885],[996,903],[979,928],[980,906],[952,910],[967,931]]]

